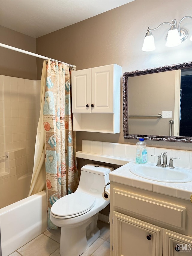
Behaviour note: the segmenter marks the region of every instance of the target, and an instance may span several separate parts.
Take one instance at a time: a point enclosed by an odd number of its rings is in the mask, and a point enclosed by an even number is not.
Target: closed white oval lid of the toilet
[[[58,199],[51,207],[51,212],[57,216],[81,215],[88,212],[95,204],[95,197],[75,192]]]

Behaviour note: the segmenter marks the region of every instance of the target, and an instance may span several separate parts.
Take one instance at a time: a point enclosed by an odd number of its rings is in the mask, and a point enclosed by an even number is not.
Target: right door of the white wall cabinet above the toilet
[[[113,113],[114,65],[91,69],[92,113]]]

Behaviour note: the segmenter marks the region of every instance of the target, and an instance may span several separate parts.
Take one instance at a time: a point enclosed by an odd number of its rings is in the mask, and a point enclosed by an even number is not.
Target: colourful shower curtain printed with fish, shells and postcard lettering
[[[50,220],[51,206],[73,193],[79,179],[72,131],[70,69],[50,59],[46,63],[43,112],[48,225],[57,229]]]

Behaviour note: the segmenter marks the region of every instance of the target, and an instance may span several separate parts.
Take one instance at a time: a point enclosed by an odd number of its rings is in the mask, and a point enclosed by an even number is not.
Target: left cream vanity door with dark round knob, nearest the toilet
[[[113,212],[114,256],[162,256],[163,228]]]

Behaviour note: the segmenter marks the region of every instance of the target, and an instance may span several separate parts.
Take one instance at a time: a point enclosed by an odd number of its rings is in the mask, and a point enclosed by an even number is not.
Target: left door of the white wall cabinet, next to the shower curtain
[[[71,79],[72,113],[91,113],[91,69],[73,71]]]

